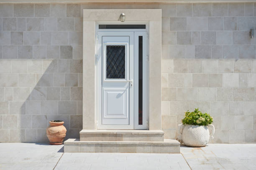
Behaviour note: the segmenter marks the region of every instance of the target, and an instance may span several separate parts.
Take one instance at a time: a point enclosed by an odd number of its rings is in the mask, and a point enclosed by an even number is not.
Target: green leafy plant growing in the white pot
[[[183,125],[210,125],[212,124],[212,117],[208,113],[202,113],[201,111],[195,109],[194,112],[185,112],[185,117],[182,119]]]

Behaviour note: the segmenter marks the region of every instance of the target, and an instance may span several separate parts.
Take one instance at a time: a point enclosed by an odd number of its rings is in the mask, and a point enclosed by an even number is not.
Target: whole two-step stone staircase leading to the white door
[[[80,139],[64,142],[67,153],[179,153],[179,147],[162,130],[81,130]]]

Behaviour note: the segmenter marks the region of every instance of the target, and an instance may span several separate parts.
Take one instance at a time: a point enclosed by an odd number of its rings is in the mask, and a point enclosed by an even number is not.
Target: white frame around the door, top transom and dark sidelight
[[[99,24],[120,24],[120,22],[98,22],[96,24],[96,36],[95,36],[95,42],[96,42],[96,60],[95,60],[95,72],[96,72],[96,101],[97,101],[97,106],[95,108],[97,112],[96,118],[96,124],[97,124],[97,129],[148,129],[148,22],[126,22],[124,24],[145,24],[146,29],[98,29]],[[109,33],[108,33],[109,32]],[[134,55],[134,69],[131,70],[133,75],[134,75],[134,95],[133,95],[133,104],[131,105],[130,103],[130,109],[133,109],[133,117],[130,117],[132,123],[130,123],[129,128],[125,128],[124,125],[123,128],[120,125],[102,125],[102,58],[100,56],[102,55],[102,50],[100,48],[102,40],[100,40],[101,36],[104,34],[109,34],[115,32],[115,36],[124,36],[129,35],[129,32],[133,32],[134,35],[134,43],[133,43],[133,55]],[[135,37],[138,36],[143,36],[143,125],[138,125],[138,74],[134,74],[135,72],[138,73],[138,40],[135,40]],[[131,53],[131,50],[130,50]],[[131,95],[130,95],[131,97]],[[130,100],[131,101],[131,100]],[[131,125],[132,124],[132,125]],[[133,126],[133,127],[132,127]],[[128,126],[127,126],[128,127]]]

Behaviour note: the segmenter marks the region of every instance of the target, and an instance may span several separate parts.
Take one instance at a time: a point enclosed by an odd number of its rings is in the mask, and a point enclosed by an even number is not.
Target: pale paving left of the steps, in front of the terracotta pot
[[[0,143],[0,170],[53,170],[63,145]]]

